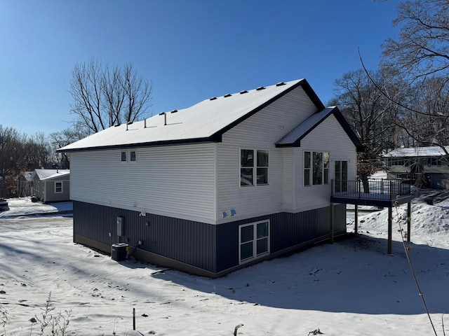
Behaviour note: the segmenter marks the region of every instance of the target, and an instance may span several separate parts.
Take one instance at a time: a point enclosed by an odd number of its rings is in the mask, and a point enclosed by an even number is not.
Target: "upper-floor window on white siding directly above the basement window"
[[[240,151],[240,186],[268,184],[268,151]]]

